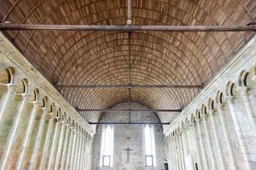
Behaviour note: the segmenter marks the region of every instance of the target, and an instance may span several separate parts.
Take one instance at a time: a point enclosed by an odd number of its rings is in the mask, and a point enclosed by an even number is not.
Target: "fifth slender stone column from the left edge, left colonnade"
[[[54,122],[54,117],[53,117],[53,113],[49,113],[49,124],[47,127],[47,132],[46,132],[46,137],[44,139],[44,149],[43,149],[43,153],[41,156],[41,161],[40,161],[40,166],[39,169],[43,170],[46,164],[46,157],[48,155],[48,148],[49,148],[49,140],[50,140],[50,136],[52,133],[52,127],[53,127],[53,122]]]

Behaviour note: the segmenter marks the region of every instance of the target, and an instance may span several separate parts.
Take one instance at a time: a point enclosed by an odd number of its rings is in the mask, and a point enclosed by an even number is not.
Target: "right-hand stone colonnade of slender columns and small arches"
[[[174,170],[256,168],[256,66],[241,71],[166,132],[166,157]],[[232,77],[234,78],[234,77]]]

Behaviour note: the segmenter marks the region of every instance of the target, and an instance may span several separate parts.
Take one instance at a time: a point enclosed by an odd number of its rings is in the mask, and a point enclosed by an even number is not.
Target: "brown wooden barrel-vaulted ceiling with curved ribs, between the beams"
[[[125,0],[1,0],[2,22],[120,25]],[[132,0],[133,25],[245,26],[255,0]],[[126,84],[128,33],[122,31],[4,31],[53,84]],[[131,83],[201,85],[253,37],[252,32],[131,33]],[[132,89],[131,99],[152,109],[180,109],[199,89]],[[128,101],[127,89],[63,88],[75,108],[105,109]],[[96,122],[102,113],[81,113]],[[169,122],[178,113],[158,113]]]

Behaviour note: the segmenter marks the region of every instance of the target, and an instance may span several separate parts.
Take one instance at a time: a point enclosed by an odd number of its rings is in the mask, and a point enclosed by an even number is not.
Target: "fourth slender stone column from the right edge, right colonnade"
[[[224,160],[224,152],[222,150],[220,139],[218,137],[218,129],[216,127],[216,122],[215,122],[215,119],[214,119],[214,112],[215,112],[214,110],[210,110],[209,115],[210,115],[210,120],[211,120],[211,123],[212,123],[212,130],[213,130],[214,139],[215,139],[215,142],[217,144],[218,155],[219,155],[219,159],[220,159],[220,167],[221,167],[222,170],[225,170],[226,166],[225,166],[225,160]]]

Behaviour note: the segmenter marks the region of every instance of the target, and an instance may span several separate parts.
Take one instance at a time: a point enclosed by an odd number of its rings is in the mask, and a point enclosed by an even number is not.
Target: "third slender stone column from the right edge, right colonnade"
[[[230,132],[229,132],[228,127],[227,127],[227,123],[226,123],[226,120],[225,120],[225,117],[224,117],[224,112],[222,110],[222,106],[223,105],[218,104],[218,116],[219,116],[219,119],[220,119],[220,122],[221,122],[221,127],[222,127],[222,130],[224,132],[224,138],[227,142],[228,151],[229,151],[230,158],[231,158],[230,166],[232,167],[233,170],[237,170],[238,166],[237,166],[237,163],[236,163],[235,152],[234,152],[232,144],[231,144],[232,139],[230,137]]]

